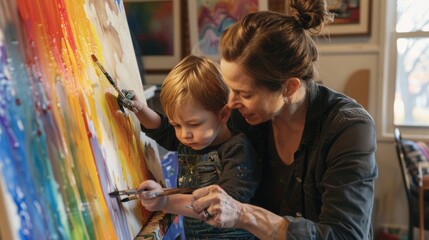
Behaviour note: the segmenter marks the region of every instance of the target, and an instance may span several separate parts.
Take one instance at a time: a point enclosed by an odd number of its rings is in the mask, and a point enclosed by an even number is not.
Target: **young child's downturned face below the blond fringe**
[[[179,141],[192,149],[200,150],[224,141],[219,133],[224,133],[227,126],[221,113],[213,113],[188,101],[180,106],[177,115],[169,119],[170,123]]]

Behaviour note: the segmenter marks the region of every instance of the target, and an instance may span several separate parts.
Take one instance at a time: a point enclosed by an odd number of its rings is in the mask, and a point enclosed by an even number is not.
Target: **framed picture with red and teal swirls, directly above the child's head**
[[[222,32],[248,13],[268,9],[268,0],[188,0],[191,53],[219,60]]]

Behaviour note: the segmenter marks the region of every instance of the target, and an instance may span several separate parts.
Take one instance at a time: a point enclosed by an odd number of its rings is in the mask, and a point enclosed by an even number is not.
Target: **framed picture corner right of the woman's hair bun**
[[[371,31],[371,0],[327,0],[334,22],[325,26],[324,35],[369,36]]]

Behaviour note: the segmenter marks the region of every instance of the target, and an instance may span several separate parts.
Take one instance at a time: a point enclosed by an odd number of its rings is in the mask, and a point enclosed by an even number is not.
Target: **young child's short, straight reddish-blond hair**
[[[192,99],[217,113],[228,102],[229,89],[219,67],[203,56],[189,55],[167,75],[160,93],[162,109],[168,118],[177,116],[180,106]]]

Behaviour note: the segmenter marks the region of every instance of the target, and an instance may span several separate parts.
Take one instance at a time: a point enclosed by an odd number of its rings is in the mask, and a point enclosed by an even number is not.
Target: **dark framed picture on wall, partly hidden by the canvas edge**
[[[180,0],[124,0],[137,56],[146,73],[167,73],[182,57]]]

